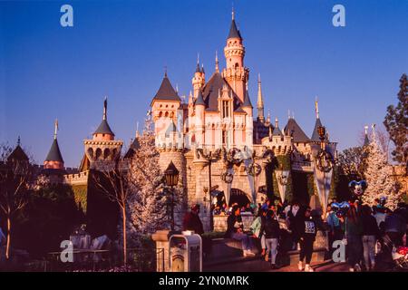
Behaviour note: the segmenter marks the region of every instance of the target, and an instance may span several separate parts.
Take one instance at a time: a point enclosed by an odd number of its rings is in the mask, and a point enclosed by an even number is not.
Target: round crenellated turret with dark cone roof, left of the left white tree
[[[90,169],[101,171],[114,169],[121,156],[122,140],[115,140],[115,134],[107,120],[108,99],[103,102],[103,117],[98,129],[93,132],[92,140],[83,140],[85,158],[82,163],[89,163]]]

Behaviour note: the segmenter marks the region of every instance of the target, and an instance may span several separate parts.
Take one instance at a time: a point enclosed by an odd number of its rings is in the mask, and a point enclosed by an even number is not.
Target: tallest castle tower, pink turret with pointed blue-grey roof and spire
[[[245,47],[235,23],[234,11],[232,11],[232,22],[229,28],[227,45],[224,48],[224,55],[227,68],[222,72],[222,76],[237,94],[239,100],[244,102],[249,70],[244,66]]]

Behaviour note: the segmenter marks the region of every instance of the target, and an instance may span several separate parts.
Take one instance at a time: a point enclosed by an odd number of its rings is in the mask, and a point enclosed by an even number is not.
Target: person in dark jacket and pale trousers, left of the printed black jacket
[[[270,266],[272,269],[278,268],[276,262],[279,231],[279,222],[277,221],[277,218],[275,218],[275,212],[272,209],[267,210],[267,217],[262,220],[262,225],[259,230],[259,238],[265,235],[265,241],[267,244],[265,260],[268,261],[270,254]]]

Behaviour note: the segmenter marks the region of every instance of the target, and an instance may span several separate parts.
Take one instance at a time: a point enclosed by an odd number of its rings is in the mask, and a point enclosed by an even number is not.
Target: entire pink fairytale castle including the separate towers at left
[[[209,208],[215,198],[223,197],[228,204],[258,203],[267,196],[310,203],[317,195],[314,167],[321,142],[318,129],[322,126],[317,102],[316,125],[310,135],[290,116],[281,129],[277,119],[271,122],[270,116],[265,116],[258,76],[255,114],[248,94],[250,73],[245,54],[233,13],[224,47],[226,67],[220,68],[216,55],[215,70],[209,76],[197,63],[188,102],[181,101],[166,72],[151,100],[160,169],[165,170],[172,161],[180,171],[183,201],[179,219],[190,205],[198,203],[204,208],[200,215],[205,229],[211,224]],[[79,169],[65,170],[56,130],[44,160],[42,174],[53,182],[71,185],[80,207],[87,213],[100,212],[100,218],[106,211],[92,208],[97,191],[92,186],[92,172],[112,169],[121,156],[130,157],[139,146],[136,137],[122,154],[123,141],[115,137],[105,100],[100,126],[92,140],[83,140]],[[335,155],[336,143],[328,134],[324,140]]]

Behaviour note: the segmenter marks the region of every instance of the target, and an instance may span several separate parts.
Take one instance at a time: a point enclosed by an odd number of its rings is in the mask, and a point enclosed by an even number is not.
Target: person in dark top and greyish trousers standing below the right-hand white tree
[[[372,271],[375,268],[375,245],[380,237],[380,228],[369,206],[363,206],[361,222],[363,227],[364,266],[367,271]]]

